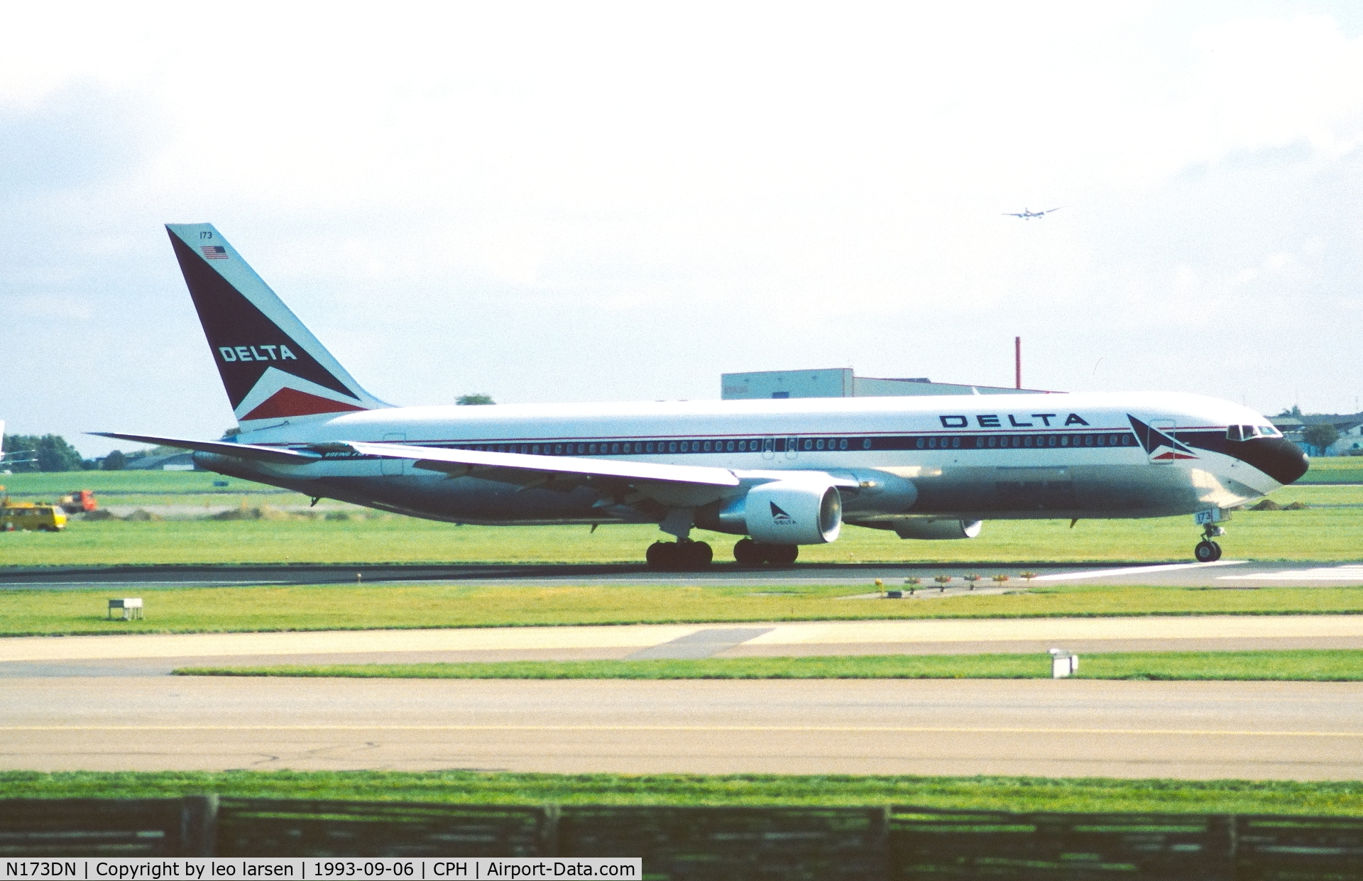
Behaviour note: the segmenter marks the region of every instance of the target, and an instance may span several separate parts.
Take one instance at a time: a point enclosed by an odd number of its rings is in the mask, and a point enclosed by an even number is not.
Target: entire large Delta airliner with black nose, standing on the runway
[[[1198,561],[1228,507],[1306,456],[1259,413],[1193,394],[393,406],[357,383],[209,224],[166,226],[241,427],[221,440],[101,432],[210,471],[466,524],[650,522],[664,569],[792,563],[842,524],[973,539],[981,521],[1193,514]]]

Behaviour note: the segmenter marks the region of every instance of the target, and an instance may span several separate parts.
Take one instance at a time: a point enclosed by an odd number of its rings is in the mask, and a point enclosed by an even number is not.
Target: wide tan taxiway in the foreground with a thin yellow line
[[[37,771],[1363,777],[1363,683],[10,679]]]

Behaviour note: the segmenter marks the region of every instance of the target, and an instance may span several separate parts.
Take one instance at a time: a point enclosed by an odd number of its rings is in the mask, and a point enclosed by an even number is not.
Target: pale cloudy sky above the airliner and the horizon
[[[166,222],[394,404],[1020,335],[1029,387],[1360,409],[1358,3],[0,8],[11,434],[234,424]]]

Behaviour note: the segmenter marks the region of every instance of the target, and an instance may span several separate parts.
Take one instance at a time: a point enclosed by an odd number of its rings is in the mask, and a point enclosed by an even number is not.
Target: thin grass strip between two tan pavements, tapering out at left
[[[356,679],[1050,679],[1045,655],[866,655],[705,660],[185,667],[184,676]],[[1085,655],[1077,679],[1363,682],[1363,651]]]

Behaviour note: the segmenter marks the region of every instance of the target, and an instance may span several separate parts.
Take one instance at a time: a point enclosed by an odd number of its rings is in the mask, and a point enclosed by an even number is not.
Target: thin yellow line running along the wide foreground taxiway
[[[1363,731],[1214,728],[994,728],[947,726],[0,726],[0,731],[732,731],[767,734],[1126,734],[1145,736],[1360,738]]]

